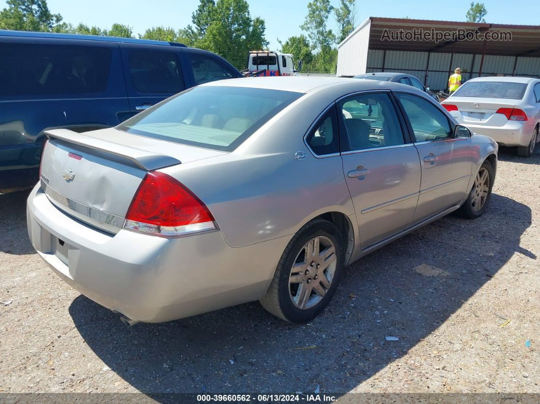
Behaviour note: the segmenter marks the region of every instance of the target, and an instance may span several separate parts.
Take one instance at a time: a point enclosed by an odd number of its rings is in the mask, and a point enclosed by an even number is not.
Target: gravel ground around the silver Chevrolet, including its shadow
[[[0,195],[0,392],[540,393],[538,153],[502,148],[484,216],[350,265],[300,326],[249,303],[126,327],[35,254],[27,196]]]

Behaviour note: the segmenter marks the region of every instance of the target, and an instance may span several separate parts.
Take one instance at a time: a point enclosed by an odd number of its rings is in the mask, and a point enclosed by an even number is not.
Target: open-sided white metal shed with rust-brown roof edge
[[[338,45],[337,76],[408,73],[443,90],[456,67],[463,80],[540,77],[540,26],[369,17]]]

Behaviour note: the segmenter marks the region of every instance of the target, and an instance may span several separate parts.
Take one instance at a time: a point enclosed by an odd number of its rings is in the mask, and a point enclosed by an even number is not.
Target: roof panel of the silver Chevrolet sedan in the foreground
[[[217,87],[251,87],[267,88],[268,90],[294,91],[307,93],[315,88],[346,87],[350,92],[363,90],[403,90],[410,91],[411,86],[380,80],[358,80],[345,77],[246,77],[240,79],[218,80],[201,86]],[[419,91],[420,92],[420,91]],[[422,93],[422,92],[420,92]]]

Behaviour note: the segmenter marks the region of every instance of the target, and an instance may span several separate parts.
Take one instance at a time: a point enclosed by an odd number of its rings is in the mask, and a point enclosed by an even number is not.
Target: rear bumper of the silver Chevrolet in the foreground
[[[220,231],[110,235],[60,211],[39,186],[28,198],[27,217],[32,245],[60,278],[100,305],[150,323],[259,299],[288,242],[233,248]]]

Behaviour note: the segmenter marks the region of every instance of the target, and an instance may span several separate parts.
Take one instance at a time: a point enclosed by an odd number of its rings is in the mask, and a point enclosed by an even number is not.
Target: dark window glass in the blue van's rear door
[[[173,52],[130,51],[133,87],[139,93],[179,93],[184,90],[180,60]]]

